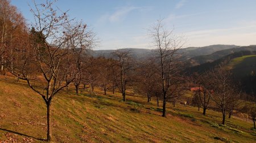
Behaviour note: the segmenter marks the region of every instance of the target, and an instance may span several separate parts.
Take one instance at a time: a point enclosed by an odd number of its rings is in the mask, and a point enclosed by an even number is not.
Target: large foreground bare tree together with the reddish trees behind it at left
[[[0,5],[1,70],[27,81],[43,98],[47,140],[51,141],[52,99],[81,78],[84,53],[93,46],[95,34],[82,21],[69,19],[67,12],[54,8],[51,1],[31,8],[35,19],[31,29],[10,1],[1,0]]]

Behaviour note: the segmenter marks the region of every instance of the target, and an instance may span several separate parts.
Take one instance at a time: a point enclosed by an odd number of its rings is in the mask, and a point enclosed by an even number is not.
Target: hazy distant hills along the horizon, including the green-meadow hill
[[[129,50],[131,56],[143,60],[154,55],[150,49],[119,49]],[[115,50],[88,50],[93,57],[111,58]],[[180,49],[182,59],[187,63],[188,73],[205,72],[222,66],[231,70],[233,75],[242,84],[242,89],[247,93],[256,93],[256,45],[210,45],[204,47],[187,47]]]

